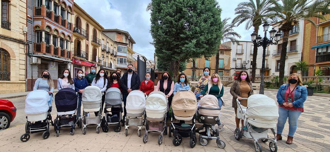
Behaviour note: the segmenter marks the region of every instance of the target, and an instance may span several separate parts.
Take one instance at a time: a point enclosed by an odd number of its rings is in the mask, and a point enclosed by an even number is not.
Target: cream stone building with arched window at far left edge
[[[0,0],[0,94],[24,92],[26,1]]]

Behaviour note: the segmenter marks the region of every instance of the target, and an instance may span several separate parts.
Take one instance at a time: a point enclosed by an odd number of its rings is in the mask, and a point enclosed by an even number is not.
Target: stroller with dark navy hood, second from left
[[[78,122],[78,127],[81,127],[81,119],[78,121],[78,97],[77,93],[72,88],[60,89],[55,94],[55,105],[57,116],[54,119],[54,130],[56,137],[60,134],[61,128],[71,128],[70,134],[75,134],[75,126]]]

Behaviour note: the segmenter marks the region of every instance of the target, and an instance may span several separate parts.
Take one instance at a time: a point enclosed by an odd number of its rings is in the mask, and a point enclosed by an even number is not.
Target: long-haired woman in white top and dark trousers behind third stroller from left
[[[107,90],[108,86],[108,80],[105,78],[105,70],[100,69],[99,72],[97,72],[96,77],[92,81],[92,86],[99,87],[102,92],[102,109],[104,105],[105,100],[105,91]],[[98,116],[99,112],[95,112],[95,116]]]

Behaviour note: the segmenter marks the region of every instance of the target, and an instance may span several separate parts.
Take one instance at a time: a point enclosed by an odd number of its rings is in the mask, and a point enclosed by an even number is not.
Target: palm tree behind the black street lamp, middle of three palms
[[[248,2],[241,2],[237,5],[235,9],[235,14],[237,16],[233,19],[232,23],[237,26],[246,22],[245,29],[248,30],[252,26],[254,27],[254,32],[258,34],[259,26],[263,21],[266,20],[269,14],[268,8],[271,6],[269,0],[248,0]],[[257,61],[258,45],[253,46],[253,58],[252,58],[252,79],[254,83],[256,61]]]

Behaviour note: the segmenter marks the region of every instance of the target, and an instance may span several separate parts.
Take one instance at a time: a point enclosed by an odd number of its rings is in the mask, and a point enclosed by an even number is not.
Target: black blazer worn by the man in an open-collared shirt
[[[122,94],[128,94],[127,92],[127,77],[128,72],[124,73],[124,75],[120,79],[120,87],[122,88]],[[140,87],[140,77],[137,73],[133,71],[132,79],[131,79],[131,89],[137,90]]]

